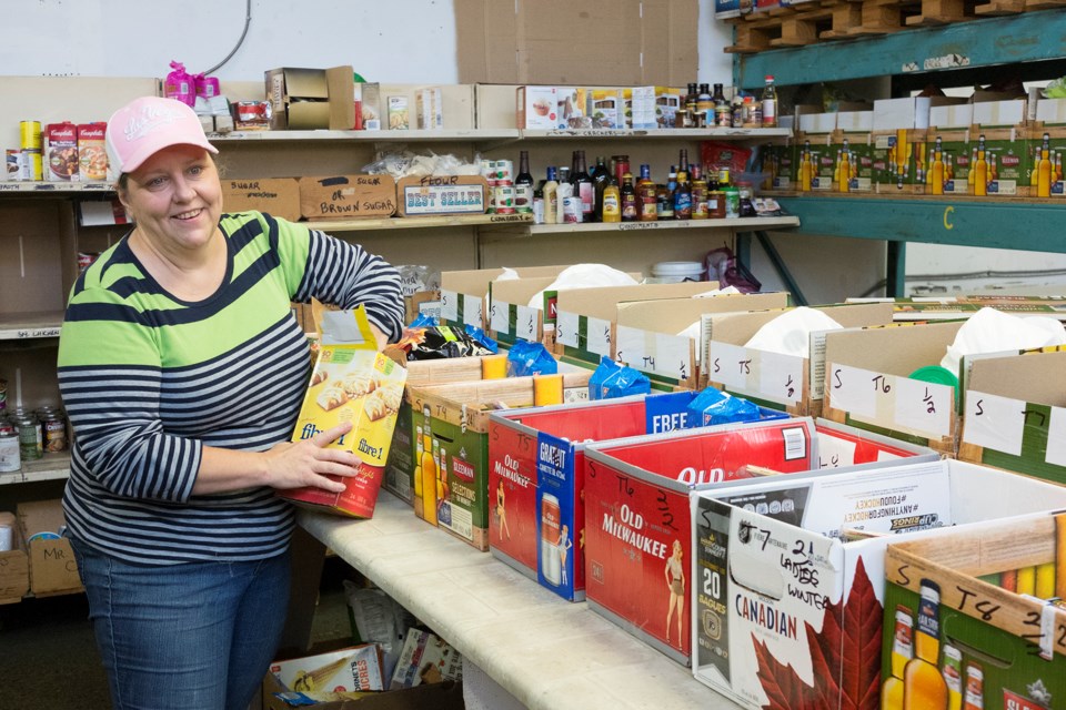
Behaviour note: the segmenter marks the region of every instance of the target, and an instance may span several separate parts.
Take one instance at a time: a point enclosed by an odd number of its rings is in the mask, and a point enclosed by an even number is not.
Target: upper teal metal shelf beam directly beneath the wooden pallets
[[[1066,12],[1044,10],[883,37],[767,50],[738,60],[742,89],[972,69],[1066,55]]]

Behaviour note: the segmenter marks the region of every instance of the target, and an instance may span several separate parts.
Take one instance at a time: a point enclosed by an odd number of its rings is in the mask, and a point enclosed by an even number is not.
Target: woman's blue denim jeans
[[[114,710],[247,710],[285,623],[288,552],[152,566],[71,542]]]

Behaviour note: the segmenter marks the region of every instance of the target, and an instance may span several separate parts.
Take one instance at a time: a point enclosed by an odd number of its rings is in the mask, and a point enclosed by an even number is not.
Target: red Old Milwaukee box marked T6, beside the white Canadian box
[[[827,454],[829,462],[857,465],[916,453],[896,443],[866,440],[859,446],[862,434],[852,430],[848,436],[851,442],[844,437],[826,445],[827,452],[836,452]],[[587,445],[584,561],[590,606],[687,665],[691,608],[678,599],[687,605],[685,590],[691,591],[693,580],[680,587],[675,582],[690,577],[690,491],[772,473],[809,471],[821,464],[822,438],[814,422],[804,417]]]

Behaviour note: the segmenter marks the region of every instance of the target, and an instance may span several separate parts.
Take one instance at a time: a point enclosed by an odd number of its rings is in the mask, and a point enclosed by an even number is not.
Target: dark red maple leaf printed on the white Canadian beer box
[[[842,613],[843,612],[843,613]],[[766,693],[764,710],[877,710],[881,684],[883,607],[859,557],[847,604],[826,605],[822,631],[804,623],[814,684],[791,665],[774,658],[755,636],[758,680]],[[843,628],[841,617],[843,616]]]

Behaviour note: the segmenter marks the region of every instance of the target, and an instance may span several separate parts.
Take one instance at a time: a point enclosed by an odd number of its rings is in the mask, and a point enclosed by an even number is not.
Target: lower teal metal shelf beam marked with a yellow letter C
[[[1066,200],[775,197],[804,234],[1066,254]]]

